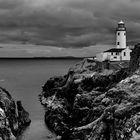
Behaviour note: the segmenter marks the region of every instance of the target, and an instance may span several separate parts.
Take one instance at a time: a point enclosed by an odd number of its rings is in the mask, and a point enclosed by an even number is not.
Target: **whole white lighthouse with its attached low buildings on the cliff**
[[[114,48],[98,53],[98,61],[129,61],[132,50],[126,45],[126,27],[123,21],[116,28],[116,45]]]

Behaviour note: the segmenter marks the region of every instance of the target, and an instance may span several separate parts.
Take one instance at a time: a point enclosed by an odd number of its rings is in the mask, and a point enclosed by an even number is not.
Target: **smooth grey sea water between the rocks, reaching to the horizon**
[[[0,86],[30,113],[31,125],[18,140],[53,140],[44,123],[44,109],[38,100],[42,85],[52,76],[64,75],[78,59],[0,59]]]

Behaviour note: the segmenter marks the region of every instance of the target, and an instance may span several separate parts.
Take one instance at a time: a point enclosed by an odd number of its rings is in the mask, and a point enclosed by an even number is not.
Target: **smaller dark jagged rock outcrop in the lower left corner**
[[[30,122],[21,102],[16,103],[9,92],[0,87],[0,140],[16,140]]]

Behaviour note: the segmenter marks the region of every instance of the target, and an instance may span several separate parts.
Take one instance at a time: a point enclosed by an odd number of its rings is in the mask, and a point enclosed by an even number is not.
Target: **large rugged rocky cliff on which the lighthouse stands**
[[[133,67],[138,51],[135,46],[130,65],[85,59],[46,82],[40,101],[59,139],[140,139],[139,63]]]

